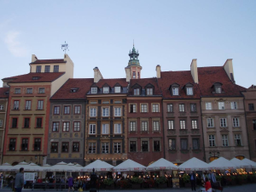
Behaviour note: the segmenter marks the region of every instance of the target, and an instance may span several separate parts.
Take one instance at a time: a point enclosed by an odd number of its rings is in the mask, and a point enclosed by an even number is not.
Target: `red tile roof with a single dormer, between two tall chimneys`
[[[233,83],[223,66],[198,67],[198,80],[201,96],[242,96],[241,91],[246,90]],[[221,82],[224,93],[212,93],[212,85]]]

